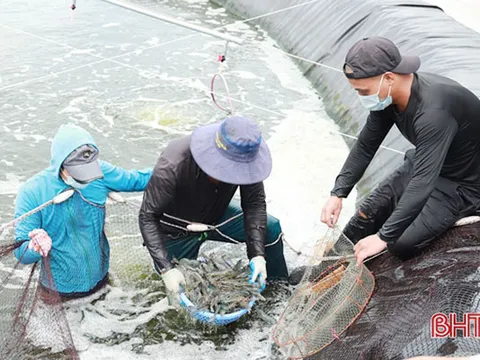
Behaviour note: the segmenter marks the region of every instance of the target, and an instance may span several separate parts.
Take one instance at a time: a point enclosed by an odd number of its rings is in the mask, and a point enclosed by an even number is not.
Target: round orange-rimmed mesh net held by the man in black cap
[[[356,265],[353,244],[338,229],[317,241],[306,269],[273,331],[280,351],[291,359],[317,353],[338,339],[374,288],[373,275]]]

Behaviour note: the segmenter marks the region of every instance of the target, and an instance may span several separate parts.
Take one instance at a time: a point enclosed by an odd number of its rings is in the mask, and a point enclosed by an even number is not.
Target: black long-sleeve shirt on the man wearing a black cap
[[[394,105],[370,112],[332,195],[348,196],[394,124],[415,146],[415,158],[412,178],[379,231],[388,243],[395,242],[418,216],[439,176],[480,192],[480,100],[451,79],[418,73],[403,113]]]

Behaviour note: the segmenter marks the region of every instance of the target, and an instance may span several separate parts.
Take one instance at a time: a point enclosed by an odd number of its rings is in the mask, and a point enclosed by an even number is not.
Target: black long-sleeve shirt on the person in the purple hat
[[[153,169],[145,189],[139,214],[140,231],[157,271],[172,267],[167,257],[166,240],[188,235],[185,226],[164,214],[191,222],[215,225],[225,213],[238,186],[212,183],[190,152],[190,136],[170,142]],[[244,214],[247,255],[265,256],[267,212],[263,182],[240,186]]]

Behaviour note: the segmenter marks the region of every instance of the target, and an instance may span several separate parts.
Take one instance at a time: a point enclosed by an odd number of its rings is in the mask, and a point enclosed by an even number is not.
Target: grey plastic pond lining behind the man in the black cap
[[[258,24],[287,52],[341,69],[348,49],[366,36],[391,39],[405,54],[419,55],[420,71],[460,82],[480,96],[480,34],[424,1],[400,0],[215,0],[243,18],[308,2],[260,18]],[[295,60],[314,84],[340,130],[357,135],[368,112],[341,72]],[[345,138],[351,145],[351,140]],[[384,146],[412,147],[393,129]],[[359,199],[398,166],[401,154],[380,149],[360,182]],[[313,164],[312,164],[313,165]],[[332,186],[333,186],[332,179]]]

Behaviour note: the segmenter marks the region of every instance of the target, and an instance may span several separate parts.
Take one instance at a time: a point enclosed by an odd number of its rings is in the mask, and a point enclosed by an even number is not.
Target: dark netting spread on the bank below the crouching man
[[[404,360],[480,353],[478,334],[432,338],[436,313],[480,313],[480,224],[455,227],[408,261],[382,255],[368,267],[375,292],[342,335],[310,359]],[[478,328],[478,324],[477,324]]]

